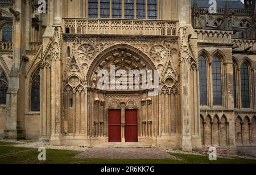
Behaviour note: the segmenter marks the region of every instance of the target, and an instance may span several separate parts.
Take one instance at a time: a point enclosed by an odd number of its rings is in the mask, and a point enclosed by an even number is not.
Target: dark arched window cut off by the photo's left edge
[[[6,92],[8,89],[8,81],[5,72],[0,67],[0,105],[6,104]]]

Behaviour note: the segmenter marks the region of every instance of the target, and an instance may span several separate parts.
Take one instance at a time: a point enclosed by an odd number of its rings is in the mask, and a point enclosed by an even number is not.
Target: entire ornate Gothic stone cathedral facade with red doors
[[[254,0],[0,3],[0,138],[185,151],[256,144]],[[114,83],[123,71],[158,76],[102,89],[102,70]]]

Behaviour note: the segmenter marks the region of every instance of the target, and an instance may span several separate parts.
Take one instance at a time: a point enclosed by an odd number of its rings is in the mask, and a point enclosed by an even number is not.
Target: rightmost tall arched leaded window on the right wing
[[[246,63],[241,65],[241,99],[242,108],[250,108],[249,69]]]

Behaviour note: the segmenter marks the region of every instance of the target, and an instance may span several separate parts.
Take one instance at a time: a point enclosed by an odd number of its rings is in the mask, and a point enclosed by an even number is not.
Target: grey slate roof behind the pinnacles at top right
[[[209,0],[192,0],[192,7],[194,5],[194,1],[197,2],[199,7],[209,7]],[[245,5],[239,0],[228,0],[229,7],[233,9],[243,9]],[[226,0],[217,0],[217,8],[225,8]]]

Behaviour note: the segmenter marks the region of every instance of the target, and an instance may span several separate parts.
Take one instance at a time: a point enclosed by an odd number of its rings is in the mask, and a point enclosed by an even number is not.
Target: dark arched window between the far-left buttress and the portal
[[[34,72],[31,80],[30,110],[40,110],[40,67]]]

